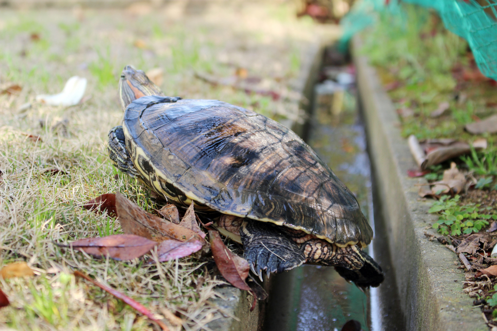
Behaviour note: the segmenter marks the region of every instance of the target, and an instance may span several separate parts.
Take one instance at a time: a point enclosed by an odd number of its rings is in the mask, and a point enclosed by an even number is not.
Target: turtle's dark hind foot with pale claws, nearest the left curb
[[[298,267],[305,261],[303,252],[282,227],[268,222],[245,219],[240,227],[244,257],[250,269],[259,275],[280,273]]]

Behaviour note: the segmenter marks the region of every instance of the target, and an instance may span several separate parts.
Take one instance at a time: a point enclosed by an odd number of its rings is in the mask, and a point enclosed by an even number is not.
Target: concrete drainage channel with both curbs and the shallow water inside
[[[308,138],[356,194],[370,222],[374,220],[375,239],[369,249],[384,268],[385,282],[366,295],[333,268],[305,265],[272,276],[265,284],[270,287],[268,303],[258,303],[252,313],[245,292],[219,289],[224,299],[216,304],[226,315],[212,322],[211,330],[340,330],[350,319],[359,321],[363,330],[374,331],[488,330],[480,311],[472,309],[472,299],[462,292],[464,275],[457,272],[453,253],[425,239],[432,221],[427,216],[429,203],[418,201],[413,185],[417,181],[406,175],[415,165],[400,136],[395,109],[367,59],[356,55],[358,44],[354,39],[365,130],[359,105],[353,105],[350,95],[339,96],[342,104],[349,104],[336,112],[333,84],[316,85],[323,47],[310,50],[302,68],[300,90],[312,100],[306,104],[310,120],[305,125],[285,125]]]

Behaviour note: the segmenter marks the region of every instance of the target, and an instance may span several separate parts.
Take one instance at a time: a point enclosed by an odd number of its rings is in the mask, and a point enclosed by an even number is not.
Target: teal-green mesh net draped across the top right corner
[[[497,0],[404,0],[435,9],[445,27],[466,39],[482,74],[497,80]],[[397,0],[358,0],[342,18],[341,47],[366,26],[378,12],[402,14]]]

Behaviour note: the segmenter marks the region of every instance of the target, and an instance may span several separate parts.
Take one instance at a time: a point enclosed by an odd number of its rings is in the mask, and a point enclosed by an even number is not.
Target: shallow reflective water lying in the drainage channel
[[[374,220],[375,239],[369,254],[382,265],[386,280],[366,294],[332,267],[304,265],[273,275],[264,330],[339,331],[348,320],[360,322],[364,331],[404,330],[380,209],[374,208],[380,201],[373,200],[373,179],[353,75],[346,67],[324,70],[326,77],[342,84],[327,80],[315,86],[307,143],[355,194],[373,229]]]

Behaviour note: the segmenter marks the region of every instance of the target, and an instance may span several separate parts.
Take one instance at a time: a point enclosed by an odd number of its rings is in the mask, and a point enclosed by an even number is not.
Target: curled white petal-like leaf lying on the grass
[[[52,106],[74,106],[81,101],[86,90],[86,79],[78,76],[71,77],[62,92],[58,94],[40,94],[36,100]]]

